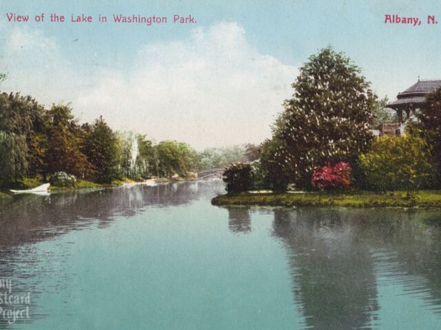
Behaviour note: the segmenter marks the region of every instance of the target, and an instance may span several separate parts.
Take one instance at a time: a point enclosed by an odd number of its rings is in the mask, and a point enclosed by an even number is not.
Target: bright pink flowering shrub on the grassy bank
[[[334,166],[315,166],[311,184],[320,190],[347,190],[352,182],[352,168],[346,162],[338,162]]]

